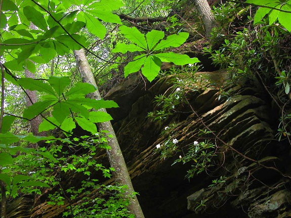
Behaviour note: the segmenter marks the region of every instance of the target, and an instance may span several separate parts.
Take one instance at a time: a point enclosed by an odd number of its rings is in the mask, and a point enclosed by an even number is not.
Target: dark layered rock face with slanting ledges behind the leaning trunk
[[[147,114],[156,108],[156,95],[174,91],[169,79],[145,85],[133,75],[106,95],[120,106],[108,111],[114,118],[113,127],[145,217],[290,217],[289,180],[272,169],[283,173],[288,170],[289,149],[283,153],[278,149],[284,144],[274,140],[270,121],[275,114],[264,93],[254,86],[224,85],[225,71],[200,74],[208,74],[216,85],[188,93],[194,112],[189,105],[181,104],[181,113],[162,124],[151,122]],[[230,94],[222,95],[220,87]],[[163,159],[156,145],[169,139],[169,135],[160,133],[174,121],[176,129],[171,139],[179,140],[181,151]],[[205,126],[215,135],[199,136]],[[195,162],[172,166],[174,160],[187,153],[194,141],[206,138],[217,146],[211,160],[213,167],[185,179]],[[106,165],[105,152],[98,155]],[[213,184],[220,176],[224,182]],[[70,185],[76,186],[77,177],[68,175]],[[66,206],[47,205],[44,195],[43,201],[34,202],[30,217],[62,217]]]

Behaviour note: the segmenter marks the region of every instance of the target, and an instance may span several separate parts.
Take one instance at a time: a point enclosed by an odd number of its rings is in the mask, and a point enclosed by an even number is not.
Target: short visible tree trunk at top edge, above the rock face
[[[211,36],[211,30],[216,26],[216,21],[211,12],[211,8],[207,0],[195,0],[195,4],[199,14],[202,16],[202,22],[207,38]]]

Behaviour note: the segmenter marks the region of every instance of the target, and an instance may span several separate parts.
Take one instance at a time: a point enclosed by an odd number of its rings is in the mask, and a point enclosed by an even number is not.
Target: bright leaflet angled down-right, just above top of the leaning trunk
[[[103,39],[106,34],[106,28],[100,23],[100,21],[93,17],[90,14],[85,13],[84,14],[86,19],[86,27],[89,32],[91,32],[93,35],[98,36],[99,38]]]

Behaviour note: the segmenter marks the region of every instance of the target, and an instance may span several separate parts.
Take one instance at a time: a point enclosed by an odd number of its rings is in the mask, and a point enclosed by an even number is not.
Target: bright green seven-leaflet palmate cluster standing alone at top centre
[[[124,67],[124,76],[137,72],[141,69],[142,74],[152,81],[159,73],[162,62],[173,62],[175,65],[194,64],[199,62],[197,58],[189,58],[174,52],[160,52],[164,48],[179,47],[189,36],[189,33],[180,32],[164,38],[164,32],[151,30],[145,35],[136,27],[119,27],[121,33],[131,43],[119,43],[113,52],[126,53],[127,51],[139,51],[142,55],[136,56],[132,62]]]

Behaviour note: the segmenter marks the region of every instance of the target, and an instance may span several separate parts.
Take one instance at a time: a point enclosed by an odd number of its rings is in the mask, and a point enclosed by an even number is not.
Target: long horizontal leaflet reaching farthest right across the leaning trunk
[[[99,110],[100,108],[110,108],[110,107],[118,107],[117,103],[112,100],[95,100],[91,98],[69,98],[67,100],[68,103],[73,104],[83,104],[87,106],[91,106],[95,108],[95,110]]]

